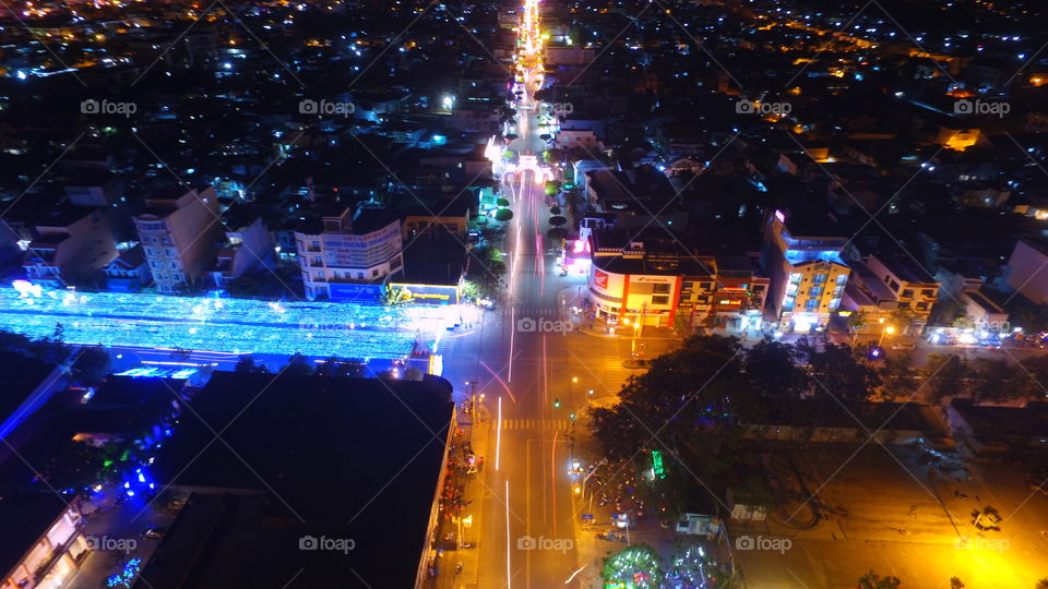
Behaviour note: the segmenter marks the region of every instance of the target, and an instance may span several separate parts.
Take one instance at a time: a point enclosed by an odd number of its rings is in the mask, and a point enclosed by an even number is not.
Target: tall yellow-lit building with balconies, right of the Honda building
[[[764,220],[762,265],[771,278],[767,311],[781,329],[802,333],[824,327],[841,306],[851,272],[841,257],[848,240],[791,231],[787,220],[791,219],[782,211]]]

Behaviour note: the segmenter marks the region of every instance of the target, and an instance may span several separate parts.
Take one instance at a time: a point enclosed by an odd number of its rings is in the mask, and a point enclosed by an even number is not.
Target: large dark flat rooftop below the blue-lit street
[[[207,507],[227,515],[204,518],[211,536],[190,534],[195,546],[213,548],[218,534],[237,537],[236,545],[221,546],[239,556],[196,557],[178,568],[181,575],[199,578],[193,587],[214,587],[206,578],[237,572],[238,587],[267,587],[301,570],[302,587],[357,587],[357,577],[347,575],[353,569],[371,586],[409,587],[453,411],[450,385],[442,389],[440,383],[446,385],[440,378],[215,373],[157,456],[156,479],[264,501]],[[212,443],[215,431],[223,443]],[[235,517],[240,508],[254,515]],[[348,553],[300,551],[303,536],[352,538],[356,546]],[[248,556],[251,566],[240,566]],[[184,587],[163,566],[151,568],[150,587]]]

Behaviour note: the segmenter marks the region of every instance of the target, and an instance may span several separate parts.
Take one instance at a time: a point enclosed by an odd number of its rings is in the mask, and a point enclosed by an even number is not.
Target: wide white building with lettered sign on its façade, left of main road
[[[365,208],[306,219],[295,231],[306,298],[356,298],[359,285],[384,283],[403,273],[400,216]]]

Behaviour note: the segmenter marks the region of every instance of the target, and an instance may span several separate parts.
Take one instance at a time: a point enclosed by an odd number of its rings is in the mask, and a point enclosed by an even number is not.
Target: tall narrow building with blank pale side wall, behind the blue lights
[[[223,227],[213,187],[179,190],[145,200],[134,217],[156,288],[175,293],[192,285],[210,265]]]

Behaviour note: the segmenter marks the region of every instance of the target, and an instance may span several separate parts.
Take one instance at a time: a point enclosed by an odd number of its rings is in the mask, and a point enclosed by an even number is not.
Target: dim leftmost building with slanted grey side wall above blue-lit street
[[[100,277],[117,256],[117,247],[103,208],[71,207],[36,225],[37,237],[26,247],[26,277],[51,288]]]

